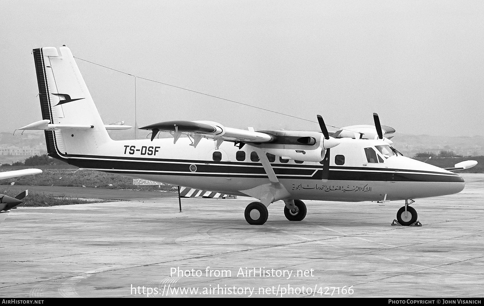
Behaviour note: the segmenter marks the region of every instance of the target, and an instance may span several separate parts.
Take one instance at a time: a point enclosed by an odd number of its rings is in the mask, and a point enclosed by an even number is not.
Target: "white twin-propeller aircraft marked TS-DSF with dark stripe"
[[[283,200],[288,220],[306,216],[303,199],[329,201],[405,200],[401,225],[417,221],[413,199],[460,192],[464,180],[448,169],[404,157],[384,135],[391,127],[355,125],[322,133],[254,131],[211,121],[169,121],[141,129],[151,139],[112,140],[92,101],[71,50],[62,46],[33,50],[42,110],[41,121],[21,130],[45,130],[48,154],[79,168],[134,178],[251,196],[245,209],[250,224],[267,221],[267,206]],[[173,138],[156,138],[158,132]],[[188,137],[180,138],[181,135]],[[391,138],[391,137],[390,137]],[[331,153],[330,153],[331,151]],[[450,170],[470,168],[466,161]]]

